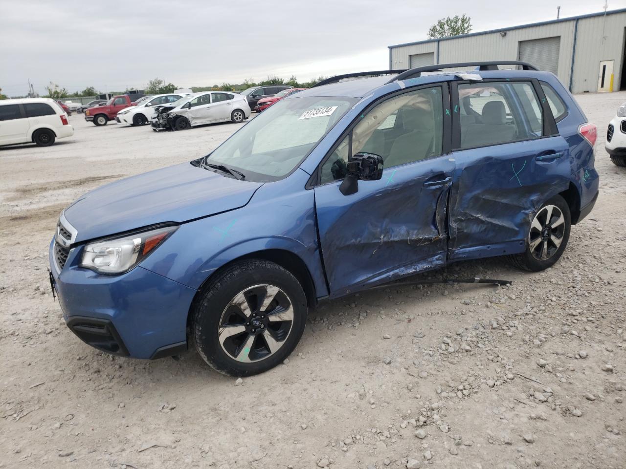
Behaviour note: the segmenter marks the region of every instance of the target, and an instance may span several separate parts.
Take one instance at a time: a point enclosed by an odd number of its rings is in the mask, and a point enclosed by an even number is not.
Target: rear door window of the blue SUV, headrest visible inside
[[[543,113],[531,83],[468,83],[458,92],[461,148],[541,136]]]

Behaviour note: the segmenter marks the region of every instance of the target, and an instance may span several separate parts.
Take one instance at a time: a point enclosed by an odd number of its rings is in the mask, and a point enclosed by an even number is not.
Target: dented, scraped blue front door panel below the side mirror
[[[359,181],[350,196],[341,194],[340,181],[315,188],[332,294],[444,265],[451,180],[445,176],[453,169],[454,162],[441,156],[387,168],[379,181]]]

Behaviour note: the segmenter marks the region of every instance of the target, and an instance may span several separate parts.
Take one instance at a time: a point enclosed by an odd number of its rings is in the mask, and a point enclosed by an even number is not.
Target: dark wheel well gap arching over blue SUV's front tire
[[[234,263],[237,263],[243,260],[249,260],[249,259],[261,259],[261,260],[270,261],[281,266],[282,268],[289,271],[290,273],[292,273],[292,275],[294,275],[295,278],[297,278],[297,280],[300,282],[300,285],[302,285],[304,294],[307,297],[307,303],[309,304],[309,308],[312,308],[313,306],[316,305],[317,296],[316,296],[316,290],[315,290],[315,285],[313,283],[313,279],[310,275],[309,268],[307,268],[307,265],[298,255],[295,255],[291,251],[285,251],[282,249],[255,251],[254,253],[246,254],[244,256],[241,256],[237,259],[233,259],[232,261],[224,264],[223,266],[218,268],[218,270],[216,270],[210,276],[208,276],[205,279],[205,281],[203,281],[202,285],[200,285],[200,287],[198,288],[198,291],[193,297],[192,305],[190,306],[189,312],[187,314],[187,330],[188,331],[190,327],[190,321],[193,318],[192,311],[195,308],[197,301],[200,298],[202,298],[202,291],[204,290],[205,286],[209,283],[209,281],[213,277],[215,277],[215,275],[219,275],[220,272],[227,269]],[[190,337],[191,336],[188,335],[188,338]]]

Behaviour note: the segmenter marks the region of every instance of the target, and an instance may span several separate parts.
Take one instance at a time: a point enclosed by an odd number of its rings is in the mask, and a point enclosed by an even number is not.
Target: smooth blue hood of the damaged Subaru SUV
[[[76,241],[85,241],[240,208],[262,185],[183,163],[106,184],[64,213],[78,231]]]

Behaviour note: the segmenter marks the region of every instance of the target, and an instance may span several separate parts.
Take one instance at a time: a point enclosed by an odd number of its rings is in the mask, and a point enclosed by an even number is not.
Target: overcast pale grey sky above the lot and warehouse
[[[439,18],[466,13],[473,31],[602,11],[588,0],[0,0],[0,88],[28,79],[69,91],[241,83],[270,74],[300,81],[386,69],[391,44],[426,39]],[[608,2],[625,8],[626,0]]]

